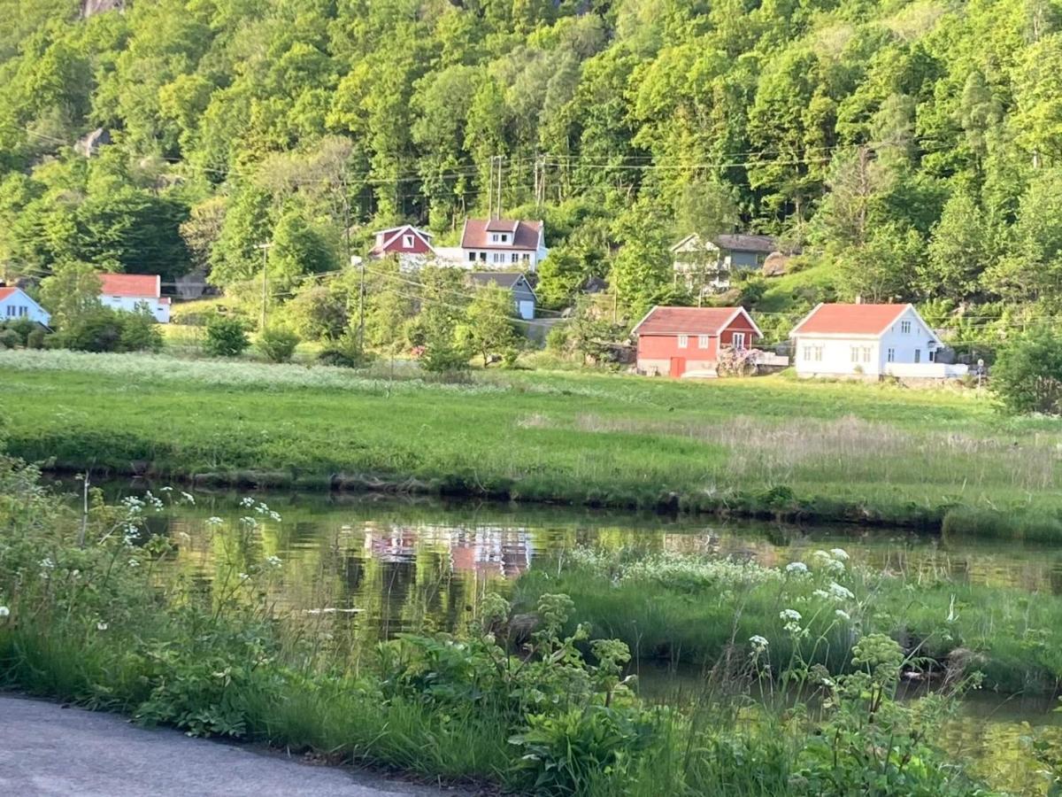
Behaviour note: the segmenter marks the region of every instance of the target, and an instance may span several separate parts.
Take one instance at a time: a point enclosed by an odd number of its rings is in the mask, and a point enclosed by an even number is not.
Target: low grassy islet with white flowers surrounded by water
[[[932,683],[960,666],[979,671],[987,688],[1006,694],[1058,692],[1062,598],[942,576],[907,581],[846,566],[847,557],[835,550],[840,553],[816,552],[788,570],[631,548],[575,550],[559,566],[525,574],[514,599],[534,606],[546,593],[570,595],[572,623],[622,640],[644,660],[707,668],[735,643],[763,637],[776,667],[801,654],[837,672],[861,635],[884,633],[923,659],[919,682]],[[782,614],[790,609],[819,640],[810,650],[786,629]]]

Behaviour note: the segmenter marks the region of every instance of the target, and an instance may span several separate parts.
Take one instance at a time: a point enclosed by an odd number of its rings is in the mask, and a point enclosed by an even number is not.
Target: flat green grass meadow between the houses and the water
[[[10,450],[63,469],[1062,537],[1062,428],[974,391],[414,375],[0,352]]]

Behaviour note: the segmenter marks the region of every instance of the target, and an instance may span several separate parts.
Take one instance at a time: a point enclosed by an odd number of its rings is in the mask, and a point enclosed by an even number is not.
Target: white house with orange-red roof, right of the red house
[[[962,376],[939,362],[944,343],[910,304],[819,304],[789,333],[799,376]]]

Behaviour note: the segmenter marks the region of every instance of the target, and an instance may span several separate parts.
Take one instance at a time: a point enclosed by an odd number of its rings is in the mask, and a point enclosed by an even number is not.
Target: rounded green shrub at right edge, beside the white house
[[[1043,329],[999,352],[992,391],[1005,411],[1062,413],[1062,336]]]

